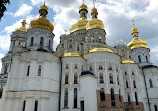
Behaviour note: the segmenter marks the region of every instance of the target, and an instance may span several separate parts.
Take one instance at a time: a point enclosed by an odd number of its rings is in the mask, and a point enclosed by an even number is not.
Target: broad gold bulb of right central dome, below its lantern
[[[87,25],[86,25],[86,30],[94,29],[94,28],[104,29],[103,22],[101,20],[98,20],[98,19],[92,19],[92,20],[90,20],[87,23]]]

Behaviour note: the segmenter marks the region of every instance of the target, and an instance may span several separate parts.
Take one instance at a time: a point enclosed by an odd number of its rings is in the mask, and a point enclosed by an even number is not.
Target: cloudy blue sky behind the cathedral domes
[[[91,19],[93,0],[84,0],[88,6],[88,20]],[[44,0],[10,0],[7,11],[0,21],[0,59],[8,52],[10,35],[21,26],[25,18],[27,28],[32,19],[39,16],[39,8]],[[79,20],[79,6],[82,0],[45,0],[48,6],[47,19],[54,25],[54,50],[59,43],[60,35],[69,33],[69,28]],[[107,32],[107,44],[123,39],[132,40],[132,18],[138,28],[139,37],[146,40],[150,48],[151,61],[158,65],[158,0],[95,0],[98,19],[102,20]],[[123,43],[123,42],[122,42]],[[119,42],[121,44],[121,42]],[[0,62],[1,68],[1,62]]]

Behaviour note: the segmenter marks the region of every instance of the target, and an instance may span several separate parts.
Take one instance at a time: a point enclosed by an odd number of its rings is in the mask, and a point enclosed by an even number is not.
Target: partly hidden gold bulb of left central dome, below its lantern
[[[77,30],[86,30],[86,24],[88,20],[78,20],[77,23],[73,24],[70,28],[70,33],[73,33]]]

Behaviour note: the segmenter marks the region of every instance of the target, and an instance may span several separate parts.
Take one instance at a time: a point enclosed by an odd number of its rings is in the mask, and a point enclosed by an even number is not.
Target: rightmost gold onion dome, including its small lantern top
[[[133,25],[133,28],[132,28],[132,35],[133,35],[133,40],[128,43],[128,47],[130,47],[131,49],[135,49],[135,48],[141,48],[141,47],[144,47],[144,48],[147,48],[147,41],[145,40],[142,40],[138,37],[138,29]]]

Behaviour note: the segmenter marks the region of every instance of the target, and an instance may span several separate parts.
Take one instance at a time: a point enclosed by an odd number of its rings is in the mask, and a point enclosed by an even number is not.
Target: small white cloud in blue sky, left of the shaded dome
[[[25,15],[28,15],[30,14],[30,12],[32,11],[32,7],[27,5],[27,4],[23,4],[19,9],[18,11],[15,13],[15,17],[17,16],[25,16]]]

